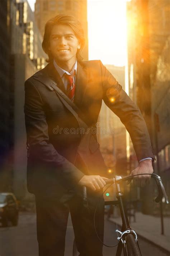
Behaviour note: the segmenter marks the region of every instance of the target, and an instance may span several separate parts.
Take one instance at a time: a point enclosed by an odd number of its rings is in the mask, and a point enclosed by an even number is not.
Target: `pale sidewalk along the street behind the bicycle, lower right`
[[[156,244],[157,246],[170,252],[170,218],[164,217],[164,235],[161,235],[161,221],[160,217],[154,217],[150,215],[136,212],[136,223],[132,221],[130,223],[131,229],[135,230],[137,235],[144,237],[148,241]],[[122,226],[121,217],[110,217],[109,221],[117,223]]]

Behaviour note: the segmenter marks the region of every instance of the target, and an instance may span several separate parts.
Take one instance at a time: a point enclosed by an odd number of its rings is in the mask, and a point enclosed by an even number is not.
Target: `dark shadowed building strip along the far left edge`
[[[12,172],[6,160],[11,147],[10,117],[10,1],[0,1],[0,187],[8,181],[11,188]],[[4,165],[6,171],[3,171]]]

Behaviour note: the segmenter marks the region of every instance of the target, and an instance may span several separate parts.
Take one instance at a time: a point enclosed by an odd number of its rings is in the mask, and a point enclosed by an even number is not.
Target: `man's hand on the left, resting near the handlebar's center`
[[[108,178],[101,177],[100,175],[84,175],[81,180],[79,180],[80,186],[86,186],[91,188],[93,191],[100,190],[106,185],[105,180]]]

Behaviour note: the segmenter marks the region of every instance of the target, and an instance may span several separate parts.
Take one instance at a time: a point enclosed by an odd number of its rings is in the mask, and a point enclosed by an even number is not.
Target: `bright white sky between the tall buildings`
[[[28,2],[34,10],[36,0]],[[126,65],[126,0],[88,0],[88,39],[89,60]]]

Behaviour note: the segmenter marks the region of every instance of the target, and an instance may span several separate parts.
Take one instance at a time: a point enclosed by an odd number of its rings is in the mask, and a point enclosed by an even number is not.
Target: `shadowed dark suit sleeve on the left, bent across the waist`
[[[45,163],[60,172],[66,188],[72,189],[84,174],[49,143],[48,124],[43,102],[36,86],[29,79],[25,81],[25,127],[29,142],[29,155],[37,162]]]

